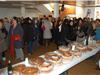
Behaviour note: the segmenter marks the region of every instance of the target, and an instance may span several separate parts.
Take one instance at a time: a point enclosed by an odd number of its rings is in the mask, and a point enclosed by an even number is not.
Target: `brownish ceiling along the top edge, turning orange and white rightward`
[[[95,6],[95,1],[94,0],[67,0],[64,1],[64,4],[68,5],[77,5],[77,6]],[[0,0],[0,7],[8,7],[8,8],[19,8],[21,6],[25,6],[25,8],[34,8],[37,5],[40,4],[46,4],[46,3],[52,3],[55,2],[54,0],[45,0],[45,1],[40,1],[40,0]],[[63,3],[63,0],[56,0],[56,2]]]

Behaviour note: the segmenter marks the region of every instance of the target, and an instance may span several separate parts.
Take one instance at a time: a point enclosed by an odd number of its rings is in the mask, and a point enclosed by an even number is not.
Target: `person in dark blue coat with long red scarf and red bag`
[[[14,51],[16,53],[16,59],[24,60],[23,47],[23,29],[18,24],[17,18],[14,17],[11,22],[10,28],[10,55],[14,57]]]

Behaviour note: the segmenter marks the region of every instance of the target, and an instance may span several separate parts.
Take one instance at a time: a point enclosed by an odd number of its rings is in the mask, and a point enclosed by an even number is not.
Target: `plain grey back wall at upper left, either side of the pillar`
[[[25,16],[37,17],[40,14],[37,10],[26,9]],[[20,8],[0,8],[0,18],[21,16]]]

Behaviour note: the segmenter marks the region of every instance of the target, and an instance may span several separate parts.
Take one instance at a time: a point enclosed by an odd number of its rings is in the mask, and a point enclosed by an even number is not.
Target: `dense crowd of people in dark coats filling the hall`
[[[71,41],[81,42],[86,36],[94,36],[100,20],[92,18],[19,18],[0,19],[0,61],[5,60],[5,51],[10,56],[24,60],[23,47],[32,54],[39,45],[54,42],[59,45],[68,45]],[[2,63],[2,62],[1,62]]]

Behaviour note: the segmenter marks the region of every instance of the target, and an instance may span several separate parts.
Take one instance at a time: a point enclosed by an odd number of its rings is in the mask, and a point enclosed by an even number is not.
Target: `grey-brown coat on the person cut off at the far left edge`
[[[7,39],[5,39],[5,34],[2,33],[1,30],[0,30],[0,41],[1,41],[0,53],[2,53],[2,52],[7,50],[7,48],[8,48],[8,41],[7,41]]]

